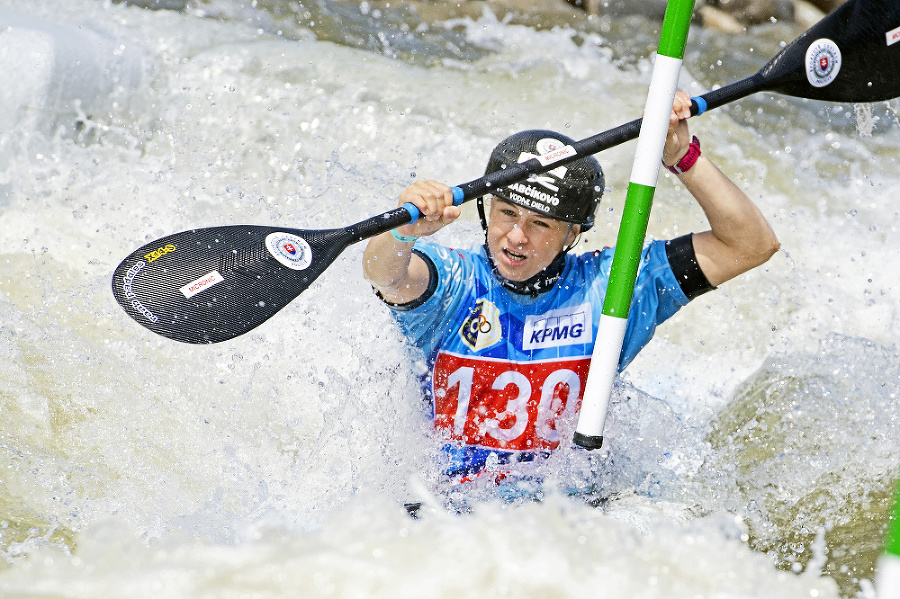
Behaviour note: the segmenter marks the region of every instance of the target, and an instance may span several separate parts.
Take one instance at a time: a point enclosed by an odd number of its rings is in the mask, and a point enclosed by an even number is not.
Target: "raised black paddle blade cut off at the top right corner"
[[[900,0],[850,0],[773,58],[766,89],[829,102],[900,96]]]

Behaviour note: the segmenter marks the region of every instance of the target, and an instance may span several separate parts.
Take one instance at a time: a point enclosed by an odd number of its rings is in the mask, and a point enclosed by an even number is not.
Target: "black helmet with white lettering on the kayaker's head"
[[[520,131],[501,141],[488,161],[485,174],[524,162],[535,156],[572,145],[575,140],[553,131]],[[527,180],[491,190],[491,194],[551,218],[594,226],[594,212],[603,195],[603,169],[593,156],[573,160],[551,171],[531,175]]]

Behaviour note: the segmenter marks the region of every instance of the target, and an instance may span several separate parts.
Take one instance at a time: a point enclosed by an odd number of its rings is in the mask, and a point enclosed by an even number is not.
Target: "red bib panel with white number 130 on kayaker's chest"
[[[441,352],[435,427],[467,445],[529,451],[559,446],[557,421],[577,410],[590,358],[510,362]]]

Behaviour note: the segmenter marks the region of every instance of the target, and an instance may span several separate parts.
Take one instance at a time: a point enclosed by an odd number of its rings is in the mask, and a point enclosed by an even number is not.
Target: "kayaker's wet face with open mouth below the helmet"
[[[493,198],[488,221],[488,249],[500,274],[527,281],[550,266],[580,227]]]

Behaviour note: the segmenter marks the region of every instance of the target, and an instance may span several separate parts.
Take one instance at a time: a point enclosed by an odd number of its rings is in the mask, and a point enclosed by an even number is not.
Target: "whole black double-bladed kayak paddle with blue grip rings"
[[[702,114],[760,91],[831,102],[900,96],[898,28],[900,0],[850,0],[755,75],[694,98],[692,112]],[[834,47],[817,50],[822,39]],[[808,49],[813,51],[809,58]],[[826,68],[811,68],[808,76],[810,61],[812,67]],[[454,188],[456,203],[634,139],[640,126],[637,119],[464,183]],[[271,318],[350,245],[418,217],[415,206],[406,204],[341,229],[233,225],[176,233],[125,258],[113,273],[113,294],[129,316],[154,333],[186,343],[227,341]]]

